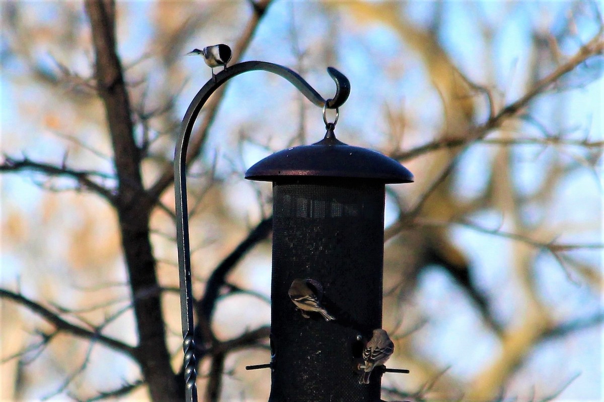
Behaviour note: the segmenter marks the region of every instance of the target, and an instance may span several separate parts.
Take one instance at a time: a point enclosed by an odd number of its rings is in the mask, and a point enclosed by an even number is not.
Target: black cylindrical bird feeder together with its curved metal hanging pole
[[[385,184],[410,183],[405,167],[379,152],[347,145],[335,137],[338,107],[350,84],[333,68],[336,95],[321,98],[295,72],[277,64],[248,61],[234,64],[208,83],[183,120],[175,161],[181,270],[182,327],[187,401],[196,401],[192,297],[185,194],[185,156],[193,121],[205,99],[224,81],[245,71],[274,72],[323,107],[325,137],[266,157],[245,178],[273,183],[271,368],[269,402],[378,402],[384,366],[370,383],[359,383],[362,349],[375,328],[382,327]],[[204,90],[205,89],[205,90]],[[327,122],[326,109],[336,110]],[[309,318],[288,296],[294,279],[322,284],[321,304],[333,321],[318,313]],[[315,289],[316,290],[316,289]],[[388,370],[390,371],[390,370]],[[396,370],[391,370],[396,371]],[[406,372],[404,370],[399,370]]]

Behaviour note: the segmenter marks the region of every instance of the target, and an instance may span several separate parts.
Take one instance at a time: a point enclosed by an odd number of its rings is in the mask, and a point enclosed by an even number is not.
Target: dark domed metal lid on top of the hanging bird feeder
[[[347,145],[329,129],[323,140],[275,152],[245,172],[249,180],[278,181],[288,177],[362,178],[385,184],[413,182],[413,174],[396,160],[371,149]]]

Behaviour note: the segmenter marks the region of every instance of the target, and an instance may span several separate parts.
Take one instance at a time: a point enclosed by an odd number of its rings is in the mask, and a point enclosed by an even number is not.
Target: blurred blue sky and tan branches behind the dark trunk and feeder
[[[148,400],[144,359],[27,303],[140,342],[123,228],[107,196],[128,178],[117,175],[90,20],[81,2],[0,8],[0,399]],[[411,374],[385,374],[383,399],[601,400],[596,3],[118,1],[115,18],[145,191],[169,175],[179,122],[211,77],[187,51],[226,43],[234,59],[294,69],[325,98],[334,90],[327,66],[349,77],[338,138],[416,177],[387,189],[384,328],[396,343],[390,364]],[[320,140],[324,128],[320,108],[263,72],[230,81],[199,121],[188,196],[201,298],[216,267],[271,215],[270,184],[243,180],[245,169]],[[178,372],[174,201],[164,183],[149,236],[156,325]],[[218,395],[207,398],[268,398],[269,373],[244,369],[269,361],[265,333],[228,342],[269,324],[269,240],[237,260],[220,289],[211,350],[226,352],[219,378],[212,353],[200,362],[200,389]]]

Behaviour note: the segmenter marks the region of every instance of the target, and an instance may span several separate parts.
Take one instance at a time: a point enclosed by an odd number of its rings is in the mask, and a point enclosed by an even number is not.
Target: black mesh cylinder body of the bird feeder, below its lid
[[[379,401],[379,375],[359,385],[353,363],[356,337],[382,324],[384,184],[292,180],[273,192],[269,401]],[[288,297],[295,278],[320,281],[335,321],[303,318]]]

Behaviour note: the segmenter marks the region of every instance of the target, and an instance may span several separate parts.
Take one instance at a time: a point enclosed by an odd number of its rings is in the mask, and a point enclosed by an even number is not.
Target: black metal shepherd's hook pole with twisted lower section
[[[325,100],[319,95],[304,78],[279,64],[266,61],[244,61],[234,64],[224,71],[216,74],[213,80],[208,81],[195,95],[182,119],[181,134],[176,142],[174,157],[174,187],[176,198],[176,244],[178,247],[179,284],[181,289],[181,322],[185,373],[185,400],[197,401],[195,345],[193,342],[193,292],[191,291],[191,256],[189,246],[188,215],[187,215],[187,147],[193,124],[205,102],[223,83],[248,71],[268,71],[288,80],[300,90],[313,104],[319,107],[335,109],[344,104],[350,95],[350,81],[344,74],[333,67],[327,68],[327,73],[336,83],[336,94],[333,98]]]

